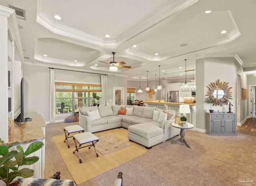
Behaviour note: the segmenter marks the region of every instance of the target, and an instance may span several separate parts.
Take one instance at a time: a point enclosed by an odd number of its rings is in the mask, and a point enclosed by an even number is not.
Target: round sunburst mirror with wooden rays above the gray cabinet
[[[214,100],[213,106],[223,106],[226,101],[232,99],[230,89],[232,87],[228,87],[228,82],[220,82],[220,80],[216,80],[206,86],[208,88],[206,96],[209,96],[210,99]]]

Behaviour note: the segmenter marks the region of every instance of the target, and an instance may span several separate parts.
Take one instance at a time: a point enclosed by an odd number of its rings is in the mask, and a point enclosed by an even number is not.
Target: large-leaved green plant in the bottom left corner
[[[19,170],[22,165],[34,164],[39,160],[39,157],[27,157],[31,153],[41,149],[44,146],[44,143],[41,141],[35,141],[28,146],[28,149],[24,152],[23,148],[18,145],[16,149],[9,152],[9,149],[16,145],[16,143],[11,143],[4,145],[4,141],[0,139],[0,179],[3,180],[6,186],[11,185],[10,182],[14,180],[17,176],[28,178],[34,175],[34,170],[29,168],[22,168]],[[11,160],[15,158],[15,160]],[[17,166],[18,165],[18,166]],[[10,172],[10,170],[12,170]]]

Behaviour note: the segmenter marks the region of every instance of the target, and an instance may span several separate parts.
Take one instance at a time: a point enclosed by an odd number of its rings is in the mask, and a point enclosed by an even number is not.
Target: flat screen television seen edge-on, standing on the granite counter
[[[15,121],[31,121],[30,117],[28,117],[28,82],[24,78],[20,82],[20,114]]]

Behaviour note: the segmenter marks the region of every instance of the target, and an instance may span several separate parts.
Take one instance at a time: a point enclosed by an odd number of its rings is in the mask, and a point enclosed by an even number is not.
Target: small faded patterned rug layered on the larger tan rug
[[[96,143],[97,151],[99,151],[102,155],[107,155],[132,145],[132,143],[122,140],[112,133],[102,133],[96,135],[99,138],[98,143]]]

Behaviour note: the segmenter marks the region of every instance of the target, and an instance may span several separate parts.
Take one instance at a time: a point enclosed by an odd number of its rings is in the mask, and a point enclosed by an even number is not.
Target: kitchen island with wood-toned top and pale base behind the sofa
[[[175,110],[176,116],[182,116],[183,114],[179,114],[180,105],[183,105],[184,102],[164,102],[164,100],[143,100],[145,106],[148,107],[156,107],[162,110]],[[188,118],[188,122],[194,125],[192,130],[196,131],[196,104],[189,103],[186,104],[190,107],[190,113],[186,114]]]

